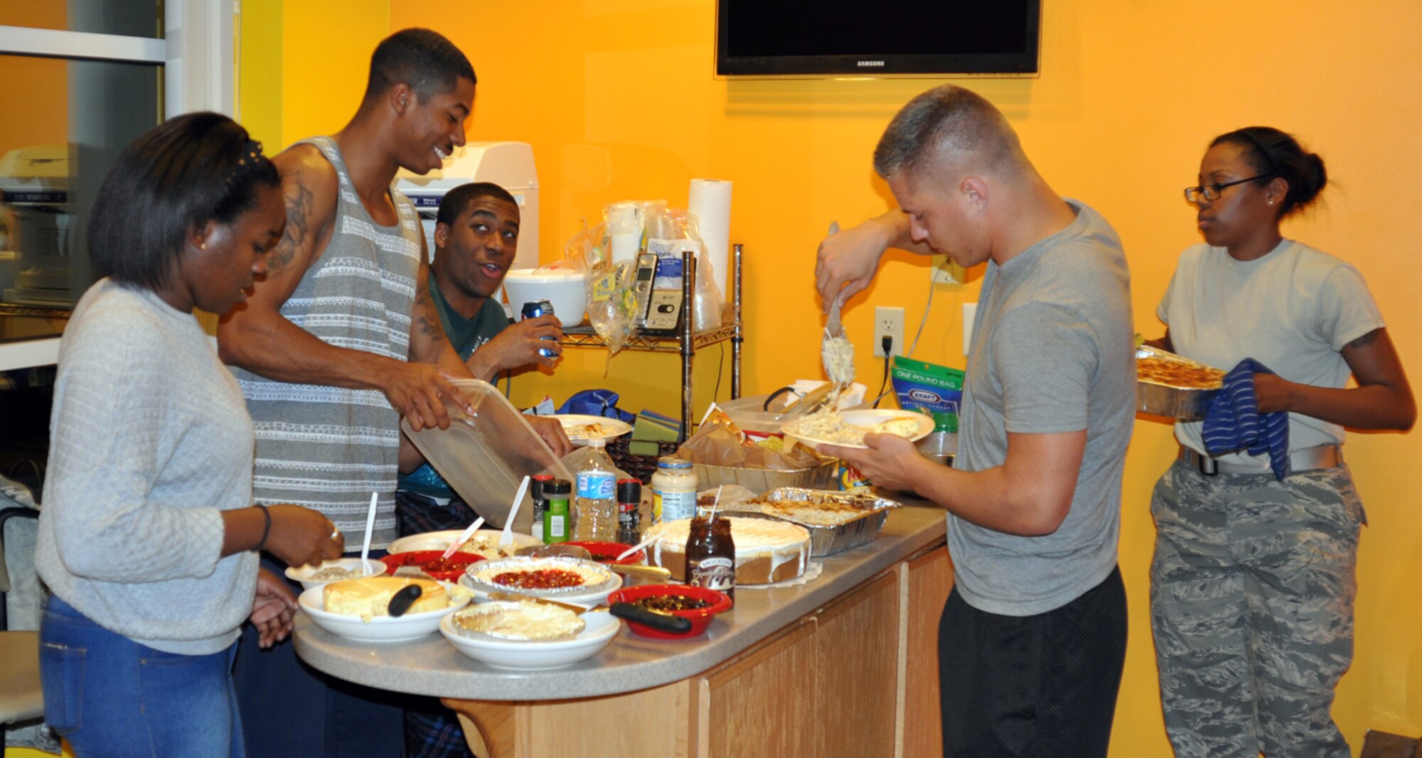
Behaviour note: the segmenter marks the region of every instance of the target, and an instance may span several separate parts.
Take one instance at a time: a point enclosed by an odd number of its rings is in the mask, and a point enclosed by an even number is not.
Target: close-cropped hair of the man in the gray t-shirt
[[[1007,118],[981,95],[944,84],[904,105],[875,148],[875,172],[884,177],[948,159],[971,170],[1005,170],[1025,163]]]

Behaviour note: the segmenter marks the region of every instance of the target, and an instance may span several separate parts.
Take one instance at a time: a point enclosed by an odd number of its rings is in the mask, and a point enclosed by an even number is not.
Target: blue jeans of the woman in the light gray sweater
[[[154,650],[51,598],[40,625],[44,718],[78,758],[242,758],[235,652]]]

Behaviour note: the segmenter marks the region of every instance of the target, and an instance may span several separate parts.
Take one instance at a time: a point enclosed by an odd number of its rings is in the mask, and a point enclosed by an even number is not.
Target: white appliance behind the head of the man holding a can
[[[513,268],[538,267],[538,169],[528,142],[469,142],[456,149],[442,169],[418,176],[401,169],[395,189],[419,210],[425,246],[435,254],[435,216],[445,193],[469,182],[492,182],[513,196],[519,206],[519,250]]]

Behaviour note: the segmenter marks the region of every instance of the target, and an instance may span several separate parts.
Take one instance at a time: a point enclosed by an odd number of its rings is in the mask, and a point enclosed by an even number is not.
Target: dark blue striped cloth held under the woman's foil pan
[[[1204,449],[1212,456],[1247,450],[1250,456],[1268,453],[1274,477],[1288,474],[1288,412],[1258,412],[1254,375],[1274,373],[1253,358],[1240,361],[1224,376],[1224,386],[1204,414]]]

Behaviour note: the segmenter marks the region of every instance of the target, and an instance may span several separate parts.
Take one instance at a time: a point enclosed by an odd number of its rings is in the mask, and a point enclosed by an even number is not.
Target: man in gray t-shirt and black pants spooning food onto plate
[[[875,170],[900,210],[825,240],[816,284],[826,304],[853,295],[889,247],[987,264],[957,468],[887,434],[822,450],[948,511],[944,755],[1103,757],[1125,663],[1116,537],[1135,417],[1121,240],[1052,192],[1003,114],[958,87],[910,101]]]

